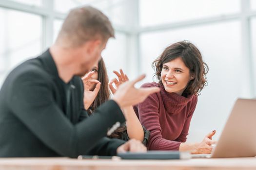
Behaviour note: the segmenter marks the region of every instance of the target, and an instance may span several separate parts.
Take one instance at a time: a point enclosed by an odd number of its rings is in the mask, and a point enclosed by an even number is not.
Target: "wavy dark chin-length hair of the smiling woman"
[[[158,83],[162,85],[161,71],[163,64],[179,57],[186,67],[189,68],[190,74],[193,73],[195,75],[195,79],[188,83],[182,95],[200,95],[200,91],[205,85],[208,85],[206,80],[208,66],[203,62],[202,55],[197,47],[189,41],[180,41],[172,44],[162,52],[162,54],[152,63],[152,67],[156,71],[154,77],[156,76]]]

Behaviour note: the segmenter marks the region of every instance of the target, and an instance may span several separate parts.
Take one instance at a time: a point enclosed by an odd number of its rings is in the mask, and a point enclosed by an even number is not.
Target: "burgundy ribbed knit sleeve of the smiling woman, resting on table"
[[[144,102],[138,104],[139,120],[150,131],[147,147],[149,150],[177,151],[181,142],[164,139],[161,135],[158,107],[157,94],[150,95]]]

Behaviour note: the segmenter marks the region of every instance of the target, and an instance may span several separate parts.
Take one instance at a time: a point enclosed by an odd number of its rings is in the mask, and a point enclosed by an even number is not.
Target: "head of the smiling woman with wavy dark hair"
[[[153,62],[155,76],[168,93],[182,96],[199,95],[206,85],[208,66],[197,47],[187,41],[167,47]],[[184,93],[184,94],[183,94]]]

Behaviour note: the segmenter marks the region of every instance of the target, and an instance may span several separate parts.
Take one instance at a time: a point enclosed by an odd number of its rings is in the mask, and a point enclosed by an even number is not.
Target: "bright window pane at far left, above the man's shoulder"
[[[0,78],[21,62],[41,52],[41,17],[0,8]],[[2,80],[0,80],[1,82]],[[0,84],[1,85],[1,84]]]

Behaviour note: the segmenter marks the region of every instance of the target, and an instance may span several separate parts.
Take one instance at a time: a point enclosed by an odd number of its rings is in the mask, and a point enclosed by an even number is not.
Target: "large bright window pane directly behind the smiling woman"
[[[231,29],[232,28],[232,29]],[[209,66],[207,74],[209,85],[198,97],[197,108],[191,122],[190,141],[202,140],[211,130],[220,132],[225,124],[234,101],[241,94],[242,83],[237,81],[242,76],[241,37],[239,22],[215,23],[177,30],[159,31],[142,34],[141,70],[147,73],[144,82],[152,82],[152,62],[165,47],[177,41],[189,40],[201,51],[204,61]],[[201,120],[211,121],[201,121]],[[209,132],[208,132],[209,131]]]

